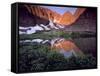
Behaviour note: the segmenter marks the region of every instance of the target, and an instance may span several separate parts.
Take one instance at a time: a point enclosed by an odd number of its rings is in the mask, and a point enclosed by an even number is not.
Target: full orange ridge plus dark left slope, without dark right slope
[[[48,24],[48,21],[51,20],[65,26],[74,23],[84,11],[85,8],[78,8],[74,15],[70,12],[60,15],[48,8],[35,5],[20,5],[19,22],[21,26],[33,26],[35,24]]]

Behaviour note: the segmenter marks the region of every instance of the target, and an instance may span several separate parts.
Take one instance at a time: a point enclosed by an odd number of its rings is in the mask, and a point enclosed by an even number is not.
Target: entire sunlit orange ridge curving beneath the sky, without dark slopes
[[[68,26],[74,23],[78,19],[78,17],[85,11],[85,8],[77,8],[74,15],[72,15],[69,11],[66,11],[63,15],[60,15],[59,13],[48,8],[33,5],[24,6],[31,14],[46,20],[52,20],[54,23],[58,23],[64,26]]]

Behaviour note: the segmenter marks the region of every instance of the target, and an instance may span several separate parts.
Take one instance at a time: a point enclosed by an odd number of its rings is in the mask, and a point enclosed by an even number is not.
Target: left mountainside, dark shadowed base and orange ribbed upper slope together
[[[19,5],[19,24],[20,26],[35,26],[36,24],[47,25],[49,20],[59,19],[60,14],[47,8],[33,5]]]

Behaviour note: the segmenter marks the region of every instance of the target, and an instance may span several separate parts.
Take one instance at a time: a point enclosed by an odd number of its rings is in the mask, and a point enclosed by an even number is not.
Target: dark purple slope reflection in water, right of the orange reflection
[[[97,56],[96,37],[75,38],[74,43],[84,52],[84,54],[91,54]]]

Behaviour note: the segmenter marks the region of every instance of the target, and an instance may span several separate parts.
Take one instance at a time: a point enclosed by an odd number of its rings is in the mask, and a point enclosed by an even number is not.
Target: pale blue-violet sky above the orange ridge
[[[56,11],[57,13],[59,13],[61,15],[63,15],[67,11],[74,14],[76,9],[77,9],[75,7],[56,7],[56,6],[41,6],[41,7],[45,7],[45,8],[48,8],[50,10]]]

